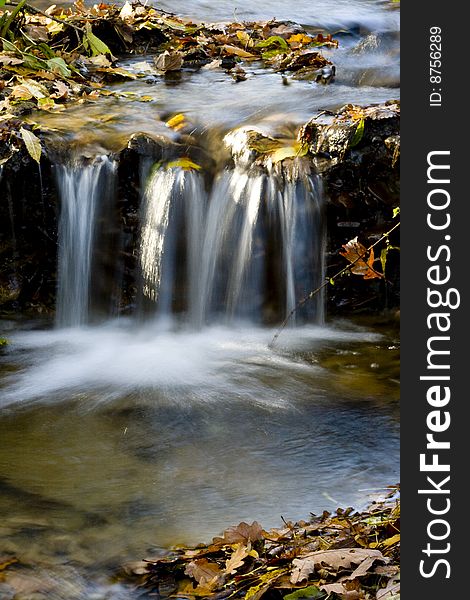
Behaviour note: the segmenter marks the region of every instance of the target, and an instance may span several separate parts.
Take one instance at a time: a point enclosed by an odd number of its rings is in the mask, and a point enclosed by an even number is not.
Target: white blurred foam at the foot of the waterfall
[[[281,407],[309,393],[312,377],[322,373],[320,367],[298,359],[296,352],[333,341],[378,339],[362,330],[306,326],[286,330],[278,348],[270,349],[273,335],[272,329],[252,326],[194,332],[169,323],[138,328],[133,321],[18,333],[11,337],[9,351],[21,370],[6,378],[1,406],[60,402],[97,390],[96,401],[106,403],[130,391],[150,389],[162,392],[162,401],[168,402],[228,398]],[[287,375],[278,391],[273,389],[277,369]],[[272,383],[266,382],[270,376]]]

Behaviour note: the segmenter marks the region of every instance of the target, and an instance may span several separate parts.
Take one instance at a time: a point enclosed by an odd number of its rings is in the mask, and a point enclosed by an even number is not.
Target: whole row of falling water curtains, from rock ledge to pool
[[[131,278],[143,318],[178,316],[195,328],[278,323],[322,282],[323,192],[307,161],[259,166],[246,154],[212,183],[180,166],[157,163],[148,171],[142,172]],[[113,302],[116,314],[120,298],[129,297],[116,276],[126,208],[115,173],[106,156],[57,167],[61,327],[89,323],[98,307],[109,317]],[[129,240],[129,231],[122,235]],[[321,323],[321,295],[295,319]]]

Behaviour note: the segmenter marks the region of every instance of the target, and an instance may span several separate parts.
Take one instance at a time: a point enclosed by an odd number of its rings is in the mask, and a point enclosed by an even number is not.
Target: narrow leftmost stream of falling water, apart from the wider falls
[[[89,321],[96,221],[100,201],[109,194],[115,162],[98,156],[88,163],[57,167],[61,199],[57,325],[79,327]]]

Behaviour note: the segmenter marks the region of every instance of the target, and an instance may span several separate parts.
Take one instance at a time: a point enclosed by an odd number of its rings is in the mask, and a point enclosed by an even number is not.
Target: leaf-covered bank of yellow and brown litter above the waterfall
[[[330,35],[308,35],[275,20],[194,23],[139,2],[86,7],[82,0],[46,11],[26,0],[0,0],[0,42],[3,119],[22,102],[53,110],[70,99],[95,99],[116,78],[135,79],[139,75],[116,66],[123,54],[155,54],[160,75],[208,66],[243,81],[239,63],[263,61],[276,71],[321,79],[330,62],[319,48],[337,45]]]

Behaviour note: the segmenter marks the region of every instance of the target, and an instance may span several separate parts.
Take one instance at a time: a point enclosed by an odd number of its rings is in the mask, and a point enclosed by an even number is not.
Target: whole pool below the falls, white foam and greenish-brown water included
[[[9,335],[3,551],[95,580],[241,520],[359,507],[395,482],[393,339],[305,327],[271,351],[272,334],[119,322]]]

